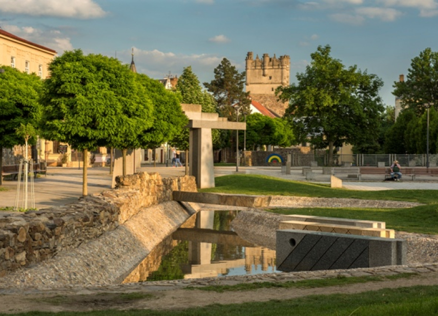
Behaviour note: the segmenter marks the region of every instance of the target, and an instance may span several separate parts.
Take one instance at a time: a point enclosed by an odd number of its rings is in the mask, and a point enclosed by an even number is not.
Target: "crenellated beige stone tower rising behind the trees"
[[[288,55],[277,58],[274,54],[270,58],[263,54],[262,59],[253,57],[253,52],[246,55],[246,92],[251,98],[276,116],[282,117],[287,107],[287,102],[278,101],[275,90],[278,86],[289,85],[290,57]]]

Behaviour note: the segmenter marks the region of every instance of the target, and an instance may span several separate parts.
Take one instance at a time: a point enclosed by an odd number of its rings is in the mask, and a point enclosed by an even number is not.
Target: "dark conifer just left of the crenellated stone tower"
[[[208,92],[212,93],[218,105],[218,112],[230,121],[236,121],[235,104],[242,106],[240,111],[249,113],[249,92],[244,92],[245,72],[239,73],[228,59],[223,58],[215,68],[215,79],[204,82]]]

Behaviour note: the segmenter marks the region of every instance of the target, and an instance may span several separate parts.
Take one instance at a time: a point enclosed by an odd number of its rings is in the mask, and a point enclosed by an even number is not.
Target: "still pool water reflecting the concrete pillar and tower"
[[[230,231],[237,211],[202,211],[187,220],[123,281],[141,282],[277,272],[275,251]]]

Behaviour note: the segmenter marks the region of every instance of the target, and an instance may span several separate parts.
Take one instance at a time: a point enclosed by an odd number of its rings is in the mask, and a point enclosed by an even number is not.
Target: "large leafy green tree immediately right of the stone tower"
[[[297,74],[298,83],[279,87],[277,94],[289,101],[285,116],[302,128],[296,134],[305,133],[316,147],[328,146],[331,165],[335,146],[369,143],[378,137],[384,108],[378,95],[382,80],[356,65],[346,69],[330,50],[328,45],[319,46],[305,73]]]

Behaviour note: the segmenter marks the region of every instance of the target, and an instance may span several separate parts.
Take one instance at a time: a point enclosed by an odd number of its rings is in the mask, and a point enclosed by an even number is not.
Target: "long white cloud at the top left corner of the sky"
[[[81,19],[107,14],[93,0],[0,0],[0,12]]]

